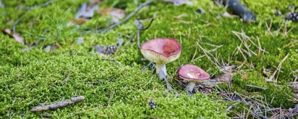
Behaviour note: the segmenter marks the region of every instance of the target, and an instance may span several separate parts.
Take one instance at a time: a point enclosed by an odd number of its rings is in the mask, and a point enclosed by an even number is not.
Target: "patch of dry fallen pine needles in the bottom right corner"
[[[298,105],[293,109],[273,108],[268,105],[266,100],[263,101],[237,92],[230,92],[230,89],[221,89],[217,85],[215,85],[214,90],[219,91],[217,96],[224,98],[224,100],[242,102],[250,107],[249,109],[245,108],[244,112],[233,112],[236,114],[236,117],[232,117],[232,119],[247,119],[247,117],[248,119],[251,119],[252,117],[256,119],[294,119],[294,116],[298,115]],[[226,111],[231,111],[230,109],[236,104],[229,106]],[[238,114],[239,112],[240,114]]]

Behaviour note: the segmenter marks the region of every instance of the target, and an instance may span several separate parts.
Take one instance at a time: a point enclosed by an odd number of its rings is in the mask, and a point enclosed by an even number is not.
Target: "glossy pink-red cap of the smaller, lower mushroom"
[[[186,64],[179,68],[178,76],[187,81],[204,82],[210,79],[210,75],[196,65]]]

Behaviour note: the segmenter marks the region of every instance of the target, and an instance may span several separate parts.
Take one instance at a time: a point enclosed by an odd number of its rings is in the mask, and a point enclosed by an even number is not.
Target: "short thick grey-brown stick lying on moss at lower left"
[[[72,105],[76,102],[79,101],[83,101],[85,99],[84,96],[79,96],[79,97],[74,97],[71,100],[67,100],[67,101],[62,101],[59,103],[52,103],[50,105],[46,105],[46,106],[36,106],[33,109],[31,109],[31,112],[40,112],[40,111],[48,111],[48,110],[55,110],[58,108],[63,108],[69,105]]]

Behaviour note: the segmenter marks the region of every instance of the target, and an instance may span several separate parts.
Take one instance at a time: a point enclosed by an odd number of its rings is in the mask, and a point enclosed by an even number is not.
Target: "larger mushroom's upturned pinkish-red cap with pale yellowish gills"
[[[166,64],[179,58],[181,46],[175,39],[156,38],[141,46],[143,56],[157,64]]]

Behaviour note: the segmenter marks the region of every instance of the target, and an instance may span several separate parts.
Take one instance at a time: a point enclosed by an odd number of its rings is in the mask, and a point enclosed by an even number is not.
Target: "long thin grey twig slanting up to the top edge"
[[[146,6],[146,5],[148,5],[149,3],[151,3],[152,1],[154,1],[154,0],[148,0],[148,1],[146,1],[146,2],[144,2],[144,3],[142,3],[142,4],[140,4],[132,13],[130,13],[128,16],[126,16],[123,20],[121,20],[121,21],[119,21],[118,23],[115,23],[115,24],[113,24],[113,25],[111,25],[110,27],[108,27],[108,28],[106,28],[106,29],[104,29],[104,30],[102,30],[100,33],[106,33],[107,31],[109,31],[109,30],[111,30],[111,29],[113,29],[113,28],[115,28],[116,26],[118,26],[118,25],[120,25],[120,24],[122,24],[122,23],[124,23],[124,22],[126,22],[128,19],[130,19],[131,17],[133,17],[141,8],[143,8],[144,6]]]

